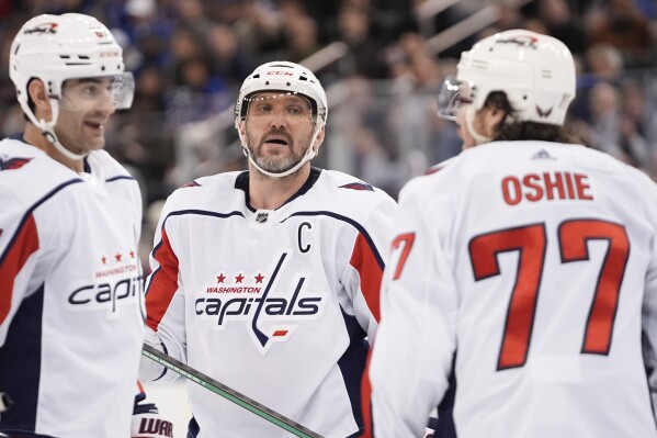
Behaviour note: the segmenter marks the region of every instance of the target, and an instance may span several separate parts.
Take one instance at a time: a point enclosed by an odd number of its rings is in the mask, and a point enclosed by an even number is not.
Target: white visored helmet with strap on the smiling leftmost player
[[[27,117],[55,146],[71,159],[81,156],[64,148],[54,127],[59,114],[61,88],[68,79],[113,77],[114,108],[127,109],[134,96],[134,79],[124,71],[123,49],[97,19],[79,14],[43,14],[29,20],[11,45],[9,76]],[[53,103],[53,120],[36,120],[29,104],[27,85],[41,79]]]

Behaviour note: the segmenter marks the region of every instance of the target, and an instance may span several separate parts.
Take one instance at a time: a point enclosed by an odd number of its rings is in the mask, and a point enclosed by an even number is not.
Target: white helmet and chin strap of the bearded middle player
[[[269,91],[288,92],[306,98],[308,102],[310,102],[313,123],[315,125],[308,149],[302,160],[291,169],[282,172],[271,172],[259,166],[249,153],[246,135],[239,130],[239,123],[247,119],[250,99],[258,93]],[[239,133],[242,153],[259,172],[272,178],[282,178],[294,173],[306,161],[313,159],[317,155],[317,148],[313,146],[319,131],[326,125],[327,116],[328,105],[326,92],[324,91],[321,83],[319,83],[319,80],[307,68],[288,61],[267,63],[258,67],[245,79],[241,89],[239,90],[237,101],[235,102],[235,127]]]

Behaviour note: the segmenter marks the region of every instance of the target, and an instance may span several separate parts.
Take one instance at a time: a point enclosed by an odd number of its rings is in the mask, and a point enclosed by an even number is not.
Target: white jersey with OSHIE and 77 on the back
[[[421,436],[455,372],[458,438],[657,437],[656,186],[545,142],[435,170],[400,194],[367,372],[374,435]]]

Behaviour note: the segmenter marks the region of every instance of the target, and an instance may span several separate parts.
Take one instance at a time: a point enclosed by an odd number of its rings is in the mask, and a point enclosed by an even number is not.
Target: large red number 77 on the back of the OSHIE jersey
[[[611,348],[619,293],[630,256],[630,242],[625,228],[619,224],[601,220],[565,221],[558,228],[562,263],[588,260],[589,240],[607,240],[609,247],[596,284],[581,352],[607,356]],[[498,254],[520,252],[498,370],[523,367],[526,362],[546,246],[544,224],[487,233],[474,237],[469,243],[475,281],[500,274]]]

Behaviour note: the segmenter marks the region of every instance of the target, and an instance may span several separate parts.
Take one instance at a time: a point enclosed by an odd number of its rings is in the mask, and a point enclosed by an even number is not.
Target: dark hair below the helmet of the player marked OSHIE
[[[516,111],[511,106],[507,94],[502,91],[494,91],[486,98],[485,106],[501,110],[507,114],[496,126],[494,141],[509,142],[522,139],[536,139],[543,142],[582,144],[567,126],[551,125],[537,122],[516,121]],[[511,120],[512,122],[508,122]]]

